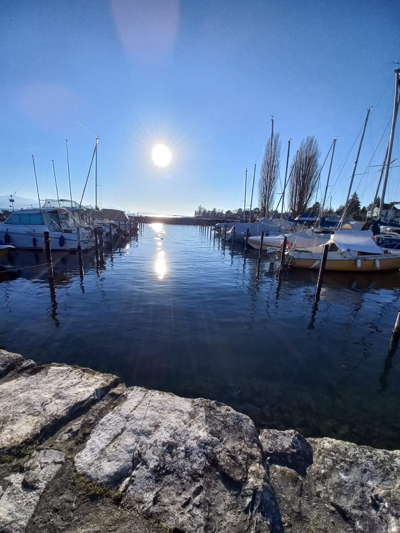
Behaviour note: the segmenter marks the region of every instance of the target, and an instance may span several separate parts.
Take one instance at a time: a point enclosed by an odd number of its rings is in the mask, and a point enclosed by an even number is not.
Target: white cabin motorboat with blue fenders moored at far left
[[[15,248],[43,249],[44,232],[49,232],[52,250],[76,250],[78,233],[76,228],[66,228],[61,217],[68,210],[64,207],[45,207],[42,209],[20,209],[13,211],[0,222],[0,244],[13,245]],[[94,246],[92,232],[79,228],[82,250]]]

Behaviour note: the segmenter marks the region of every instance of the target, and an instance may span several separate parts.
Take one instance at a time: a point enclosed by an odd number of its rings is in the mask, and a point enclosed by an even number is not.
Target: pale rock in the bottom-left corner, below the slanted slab
[[[64,461],[61,451],[35,451],[24,465],[25,471],[11,474],[2,480],[5,490],[0,495],[0,531],[25,531],[43,490]]]

